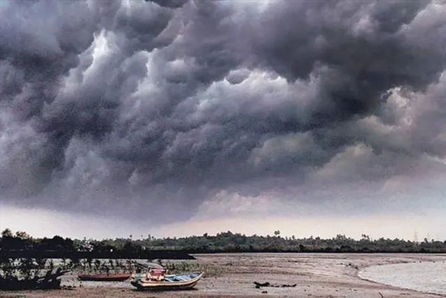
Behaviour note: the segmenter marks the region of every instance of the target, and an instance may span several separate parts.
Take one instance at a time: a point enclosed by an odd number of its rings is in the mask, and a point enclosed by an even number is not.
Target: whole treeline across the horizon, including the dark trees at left
[[[407,241],[404,239],[370,239],[366,234],[360,240],[338,234],[331,239],[309,237],[246,236],[233,232],[221,232],[215,236],[203,234],[181,238],[157,239],[147,237],[133,239],[69,239],[59,236],[35,239],[26,232],[13,234],[6,229],[1,233],[0,254],[58,252],[74,258],[144,258],[175,259],[192,258],[188,253],[243,253],[243,252],[296,252],[296,253],[446,253],[446,241]],[[163,253],[164,252],[164,253]],[[72,258],[72,257],[67,258]],[[48,255],[45,258],[52,258]]]

